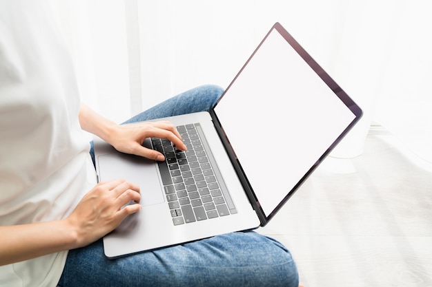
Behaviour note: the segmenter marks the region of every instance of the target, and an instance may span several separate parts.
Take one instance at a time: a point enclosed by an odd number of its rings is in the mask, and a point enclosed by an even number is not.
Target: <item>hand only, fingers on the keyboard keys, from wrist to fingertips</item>
[[[153,149],[142,146],[146,138],[166,138],[173,142],[177,149],[186,149],[181,136],[170,122],[142,122],[128,125],[115,125],[105,139],[117,151],[144,156],[151,160],[164,160],[164,156]]]

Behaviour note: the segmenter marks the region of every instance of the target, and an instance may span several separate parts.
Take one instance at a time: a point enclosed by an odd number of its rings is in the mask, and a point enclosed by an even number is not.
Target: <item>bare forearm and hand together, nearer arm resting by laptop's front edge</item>
[[[86,246],[141,209],[139,188],[124,180],[97,184],[64,220],[0,226],[0,266]]]

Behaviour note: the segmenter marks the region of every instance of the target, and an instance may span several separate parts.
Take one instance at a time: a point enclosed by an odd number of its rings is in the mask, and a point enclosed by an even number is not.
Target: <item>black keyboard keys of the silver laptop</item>
[[[237,213],[199,123],[177,127],[187,150],[170,140],[151,138],[165,156],[157,162],[173,224],[187,224]]]

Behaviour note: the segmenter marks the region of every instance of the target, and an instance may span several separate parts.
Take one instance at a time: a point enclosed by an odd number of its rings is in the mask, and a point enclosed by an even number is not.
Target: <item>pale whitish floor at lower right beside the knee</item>
[[[432,286],[432,171],[371,129],[364,152],[327,158],[259,233],[293,253],[305,287]]]

